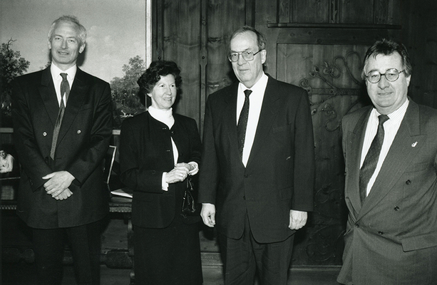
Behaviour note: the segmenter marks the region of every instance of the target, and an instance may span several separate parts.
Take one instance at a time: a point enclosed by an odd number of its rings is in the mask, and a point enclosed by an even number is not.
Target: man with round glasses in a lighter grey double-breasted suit
[[[362,73],[373,105],[342,120],[341,284],[437,284],[437,110],[407,96],[411,72],[405,46],[376,41]]]

